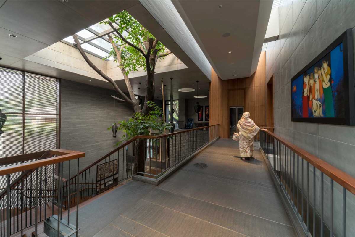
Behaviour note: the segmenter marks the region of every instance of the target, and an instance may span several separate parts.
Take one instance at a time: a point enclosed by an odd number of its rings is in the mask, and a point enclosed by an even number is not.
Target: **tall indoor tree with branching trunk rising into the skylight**
[[[139,114],[147,115],[149,117],[149,112],[152,106],[149,106],[149,101],[154,101],[154,74],[155,66],[158,60],[163,59],[166,55],[171,54],[171,51],[166,51],[165,46],[155,38],[150,32],[147,31],[135,18],[133,18],[127,11],[122,11],[119,14],[111,16],[108,21],[100,22],[100,24],[108,24],[113,30],[113,34],[108,34],[107,37],[111,42],[112,48],[110,54],[107,56],[114,57],[115,62],[118,63],[125,83],[128,89],[129,97],[125,95],[122,90],[117,86],[117,84],[109,76],[105,75],[97,66],[95,66],[87,57],[84,50],[81,48],[80,42],[76,34],[73,35],[73,44],[83,56],[84,60],[88,65],[93,68],[100,76],[105,80],[110,82],[116,92],[121,96],[121,98],[111,95],[111,97],[125,101],[129,104],[136,112],[133,117],[140,118]],[[117,28],[115,26],[118,26]],[[122,33],[126,31],[128,35],[124,37]],[[135,94],[129,80],[129,73],[131,71],[138,71],[138,68],[143,68],[146,71],[146,96],[144,98],[144,105],[141,108],[140,103],[136,100]],[[137,115],[138,113],[138,115]],[[154,123],[154,121],[152,121]],[[124,121],[121,122],[121,124]],[[159,121],[157,125],[159,126]],[[163,123],[163,127],[164,127]],[[165,126],[166,127],[166,126]],[[165,128],[164,127],[164,128]],[[132,128],[133,129],[133,128]],[[144,130],[144,129],[143,129]],[[144,130],[145,131],[145,130]],[[127,132],[127,131],[126,131]],[[142,135],[132,131],[130,134]],[[133,172],[144,172],[144,140],[138,139],[136,145],[136,158]],[[138,158],[140,162],[138,164]]]

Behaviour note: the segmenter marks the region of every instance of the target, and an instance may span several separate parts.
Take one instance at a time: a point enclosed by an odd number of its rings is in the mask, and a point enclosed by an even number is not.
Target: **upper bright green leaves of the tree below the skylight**
[[[109,21],[100,22],[100,24],[109,24],[110,22],[115,22],[113,25],[115,26],[118,24],[119,28],[118,31],[124,38],[132,43],[133,45],[137,46],[138,48],[143,48],[144,53],[147,52],[146,45],[149,38],[155,39],[155,37],[147,31],[135,18],[133,18],[127,11],[122,11],[114,16],[108,18]],[[128,32],[128,33],[127,33]],[[118,35],[112,34],[112,38],[114,43],[117,45],[117,48],[120,49],[121,46],[124,46],[121,49],[121,58],[122,58],[122,65],[126,68],[126,74],[128,75],[131,71],[138,71],[138,68],[143,68],[144,70],[147,69],[146,59],[145,57],[138,51],[137,49],[133,48],[132,46],[126,44]],[[157,46],[152,49],[159,49],[159,52],[162,53],[166,50],[165,46],[158,41]],[[109,58],[113,56],[114,60],[117,62],[117,55],[113,48],[111,48],[110,54],[106,57]],[[159,60],[163,59],[160,57]],[[150,65],[152,69],[152,65]]]

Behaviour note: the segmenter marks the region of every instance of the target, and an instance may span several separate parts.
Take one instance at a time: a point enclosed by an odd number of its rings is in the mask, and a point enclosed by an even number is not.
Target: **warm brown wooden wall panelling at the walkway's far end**
[[[266,125],[265,52],[256,72],[247,78],[222,80],[212,69],[209,90],[210,125],[219,124],[219,136],[229,138],[229,106],[244,106],[258,125]]]

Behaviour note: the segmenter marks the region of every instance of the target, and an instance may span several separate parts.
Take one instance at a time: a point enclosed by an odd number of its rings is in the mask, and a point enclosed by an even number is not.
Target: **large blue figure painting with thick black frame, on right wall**
[[[351,29],[291,79],[291,121],[355,125]]]

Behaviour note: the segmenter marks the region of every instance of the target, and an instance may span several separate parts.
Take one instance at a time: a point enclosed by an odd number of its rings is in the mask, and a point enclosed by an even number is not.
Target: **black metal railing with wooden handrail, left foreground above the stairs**
[[[76,226],[69,224],[69,209],[67,221],[62,220],[63,164],[77,160],[85,153],[53,149],[47,151],[38,160],[10,165],[0,168],[0,178],[7,180],[7,187],[0,194],[0,236],[10,236],[17,232],[35,226],[34,234],[38,235],[38,223],[58,215],[60,223],[72,228],[71,236],[78,231],[78,215]],[[78,169],[77,169],[78,171]],[[10,182],[11,174],[22,172],[14,181]],[[76,195],[78,185],[75,186]],[[58,231],[59,236],[59,231]]]

